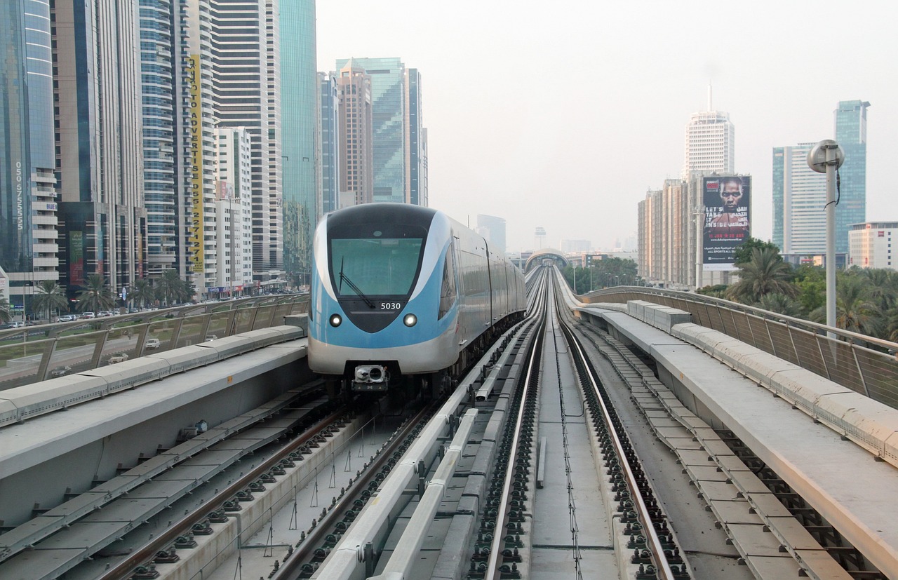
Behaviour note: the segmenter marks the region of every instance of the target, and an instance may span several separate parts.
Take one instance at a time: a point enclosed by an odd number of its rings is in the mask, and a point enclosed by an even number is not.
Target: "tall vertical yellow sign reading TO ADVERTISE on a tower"
[[[203,115],[200,95],[199,55],[187,57],[187,82],[190,94],[190,223],[188,253],[190,269],[198,274],[204,270],[203,236]]]

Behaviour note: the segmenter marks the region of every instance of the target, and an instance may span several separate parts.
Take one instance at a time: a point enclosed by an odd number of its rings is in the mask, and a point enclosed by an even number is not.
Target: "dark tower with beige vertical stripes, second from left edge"
[[[136,3],[50,9],[56,99],[60,282],[99,274],[117,292],[143,277],[146,214]]]

